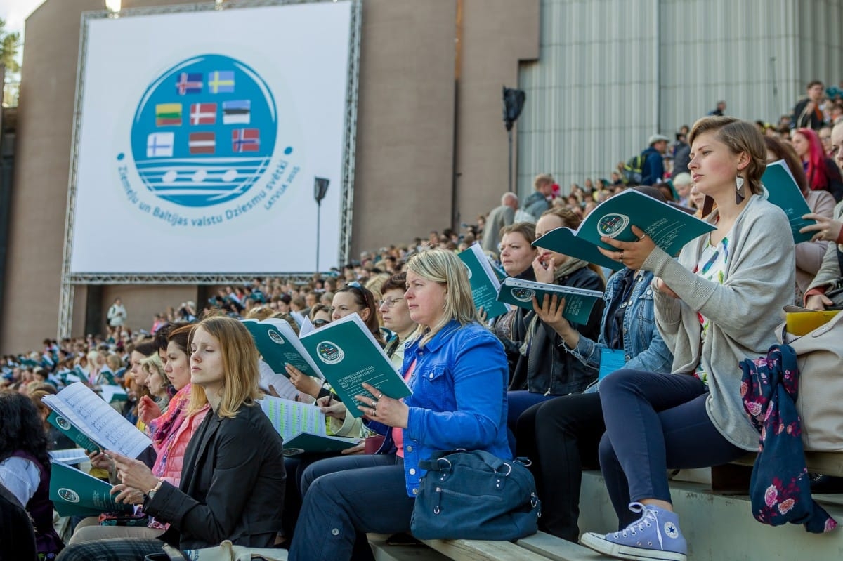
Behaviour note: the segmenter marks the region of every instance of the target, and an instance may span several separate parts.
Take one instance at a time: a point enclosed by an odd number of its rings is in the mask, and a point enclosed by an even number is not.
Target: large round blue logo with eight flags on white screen
[[[229,56],[196,56],[143,93],[132,158],[161,199],[212,206],[244,195],[266,173],[277,130],[275,99],[257,72]]]

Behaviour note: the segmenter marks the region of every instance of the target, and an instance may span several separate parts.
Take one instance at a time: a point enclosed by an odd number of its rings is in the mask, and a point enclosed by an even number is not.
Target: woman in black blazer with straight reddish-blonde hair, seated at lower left
[[[142,462],[107,452],[123,482],[112,493],[131,500],[133,491],[142,491],[143,510],[170,524],[161,539],[182,550],[223,540],[271,548],[282,528],[284,460],[281,436],[255,403],[254,340],[235,319],[207,318],[191,332],[190,355],[191,383],[205,389],[212,413],[187,446],[180,486],[159,480]],[[60,559],[142,560],[161,546],[142,538],[86,542],[66,548]]]

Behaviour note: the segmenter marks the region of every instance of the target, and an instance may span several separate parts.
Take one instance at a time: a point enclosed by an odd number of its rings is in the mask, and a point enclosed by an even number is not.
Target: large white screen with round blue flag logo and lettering
[[[350,1],[83,18],[69,274],[337,265],[351,34]]]

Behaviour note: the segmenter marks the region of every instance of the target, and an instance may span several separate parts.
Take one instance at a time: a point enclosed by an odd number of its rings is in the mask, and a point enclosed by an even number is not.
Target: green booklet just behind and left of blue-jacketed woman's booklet
[[[308,376],[325,377],[307,350],[304,350],[296,332],[283,319],[268,318],[260,322],[244,319],[243,325],[249,329],[260,355],[273,372],[287,376],[284,366],[289,363]]]

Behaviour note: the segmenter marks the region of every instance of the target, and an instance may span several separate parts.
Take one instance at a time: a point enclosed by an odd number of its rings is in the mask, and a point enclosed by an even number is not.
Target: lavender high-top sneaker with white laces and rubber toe
[[[605,536],[587,532],[580,538],[587,548],[619,559],[652,561],[685,561],[688,545],[679,530],[679,516],[675,512],[631,503],[630,510],[642,516],[620,532]]]

